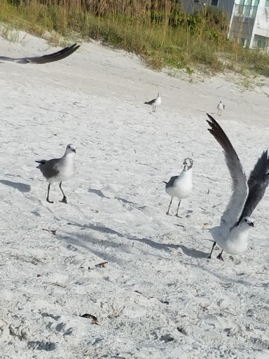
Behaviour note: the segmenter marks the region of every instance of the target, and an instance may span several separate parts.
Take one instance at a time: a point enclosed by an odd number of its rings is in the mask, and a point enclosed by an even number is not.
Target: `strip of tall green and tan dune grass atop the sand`
[[[180,0],[1,0],[0,21],[38,36],[99,39],[140,55],[151,67],[251,69],[269,76],[269,57],[226,39],[223,13],[188,15]],[[52,41],[59,41],[54,36]]]

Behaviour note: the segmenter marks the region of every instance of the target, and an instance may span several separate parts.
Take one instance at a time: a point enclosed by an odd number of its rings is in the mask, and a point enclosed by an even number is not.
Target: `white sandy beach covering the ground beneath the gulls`
[[[0,39],[1,55],[53,50],[32,36]],[[223,76],[188,83],[97,43],[48,65],[0,64],[1,359],[269,358],[269,193],[244,255],[206,259],[203,229],[230,195],[205,111],[226,104],[216,119],[248,174],[269,143],[264,82],[245,93]],[[159,91],[152,114],[143,102]],[[69,142],[69,204],[57,185],[49,204],[34,161]],[[189,156],[193,195],[181,219],[167,217],[162,181]]]

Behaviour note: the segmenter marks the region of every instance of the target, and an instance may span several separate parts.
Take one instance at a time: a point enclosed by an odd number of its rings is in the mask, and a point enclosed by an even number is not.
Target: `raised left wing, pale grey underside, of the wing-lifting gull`
[[[207,114],[209,120],[209,133],[211,133],[217,142],[221,145],[224,150],[224,156],[226,160],[226,165],[230,172],[230,177],[232,178],[232,196],[226,207],[225,212],[221,217],[221,226],[227,226],[229,229],[234,226],[237,222],[238,217],[242,212],[244,203],[247,200],[247,195],[249,193],[249,188],[247,187],[247,178],[242,168],[240,159],[233,148],[233,145],[230,143],[230,140],[224,133],[219,123],[214,120],[212,116]]]

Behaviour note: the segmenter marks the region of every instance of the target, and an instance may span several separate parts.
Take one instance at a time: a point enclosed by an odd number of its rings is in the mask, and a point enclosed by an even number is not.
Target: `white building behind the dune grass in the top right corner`
[[[269,0],[182,0],[185,11],[216,6],[229,20],[229,39],[249,48],[269,48]]]

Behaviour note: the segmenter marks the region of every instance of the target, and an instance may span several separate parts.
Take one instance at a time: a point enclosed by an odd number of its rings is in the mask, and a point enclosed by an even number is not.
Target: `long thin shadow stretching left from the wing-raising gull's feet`
[[[78,226],[81,229],[91,229],[92,231],[98,231],[100,233],[114,234],[114,235],[118,236],[119,238],[126,238],[128,241],[132,241],[132,242],[137,241],[139,243],[144,243],[146,245],[151,246],[151,248],[154,248],[157,250],[165,250],[167,252],[167,250],[170,250],[170,249],[181,248],[184,255],[187,255],[188,257],[207,258],[207,256],[208,256],[208,253],[201,252],[200,250],[189,249],[185,245],[177,245],[177,244],[173,244],[173,243],[158,243],[149,238],[137,238],[135,236],[130,236],[129,234],[120,233],[114,229],[111,229],[111,228],[106,227],[101,224],[83,224],[83,225],[81,225],[81,224],[74,223],[74,222],[69,222],[69,224],[71,226]],[[115,243],[113,243],[113,246],[115,246]],[[122,244],[120,246],[122,246]]]

